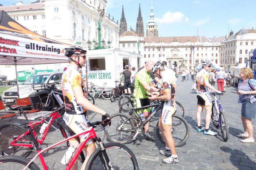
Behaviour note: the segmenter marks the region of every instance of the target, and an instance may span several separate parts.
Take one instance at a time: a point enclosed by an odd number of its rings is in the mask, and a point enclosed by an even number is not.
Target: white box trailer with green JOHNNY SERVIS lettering
[[[115,87],[116,79],[124,70],[125,65],[138,68],[144,65],[144,58],[140,54],[131,53],[117,48],[87,51],[88,83],[102,87]],[[85,75],[85,68],[82,68]],[[88,84],[89,86],[89,84]]]

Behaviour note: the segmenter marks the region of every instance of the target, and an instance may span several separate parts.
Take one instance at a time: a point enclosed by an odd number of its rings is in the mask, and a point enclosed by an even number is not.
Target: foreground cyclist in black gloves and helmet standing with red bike
[[[99,113],[102,115],[102,123],[110,125],[111,117],[105,111],[94,106],[85,97],[83,79],[81,78],[78,69],[85,66],[87,61],[86,50],[84,47],[79,45],[69,46],[68,48],[65,48],[65,50],[65,55],[69,59],[68,63],[70,66],[68,66],[67,70],[62,75],[61,88],[65,102],[65,114],[63,116],[63,120],[68,129],[68,135],[73,136],[92,128],[87,127],[87,120],[85,119],[86,110]],[[74,146],[76,149],[84,138],[86,139],[85,135],[81,135],[76,140],[70,140],[69,144],[70,146]],[[86,162],[94,150],[94,143],[90,139],[84,146],[86,158],[82,165],[82,169],[85,168]],[[77,161],[71,169],[77,169]]]

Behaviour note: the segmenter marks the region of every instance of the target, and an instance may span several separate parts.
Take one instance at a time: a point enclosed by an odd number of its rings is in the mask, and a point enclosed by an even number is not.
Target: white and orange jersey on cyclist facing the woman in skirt
[[[196,74],[197,91],[209,92],[208,87],[206,87],[205,82],[209,82],[209,73],[202,69]]]

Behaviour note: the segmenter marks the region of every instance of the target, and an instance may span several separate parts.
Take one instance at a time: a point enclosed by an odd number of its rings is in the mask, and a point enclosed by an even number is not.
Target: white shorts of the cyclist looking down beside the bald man
[[[177,107],[176,104],[164,105],[163,110],[160,114],[162,125],[164,126],[172,126],[172,115],[176,113]]]

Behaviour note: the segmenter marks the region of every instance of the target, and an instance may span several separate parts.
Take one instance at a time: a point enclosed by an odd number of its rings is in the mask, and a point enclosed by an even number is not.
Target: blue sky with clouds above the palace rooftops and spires
[[[18,1],[18,0],[17,0]],[[35,0],[22,0],[30,3]],[[151,0],[107,0],[107,14],[120,21],[122,5],[127,28],[136,29],[141,7],[144,31],[149,19]],[[15,4],[15,0],[1,0],[4,6]],[[153,0],[159,36],[220,37],[232,29],[234,33],[243,27],[256,28],[255,0]]]

